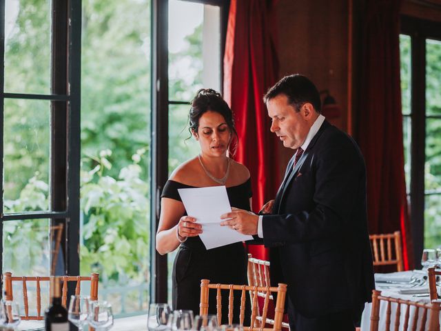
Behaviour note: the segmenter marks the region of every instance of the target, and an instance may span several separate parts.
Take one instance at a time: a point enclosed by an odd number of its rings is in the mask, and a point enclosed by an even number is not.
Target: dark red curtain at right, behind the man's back
[[[370,233],[402,233],[413,265],[407,211],[400,90],[400,0],[369,0],[362,35],[360,148],[367,165]]]

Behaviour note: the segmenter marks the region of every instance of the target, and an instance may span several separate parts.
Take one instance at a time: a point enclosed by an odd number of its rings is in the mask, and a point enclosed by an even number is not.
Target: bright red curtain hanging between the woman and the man
[[[224,98],[232,108],[238,132],[235,159],[249,169],[253,210],[274,199],[280,182],[277,141],[263,95],[276,83],[276,1],[232,0],[224,56]],[[249,252],[267,259],[265,248]]]

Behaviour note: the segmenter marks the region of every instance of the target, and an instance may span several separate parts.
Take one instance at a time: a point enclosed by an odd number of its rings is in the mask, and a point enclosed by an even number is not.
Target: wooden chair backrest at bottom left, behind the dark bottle
[[[21,283],[23,287],[23,306],[25,314],[21,316],[23,320],[37,320],[41,321],[44,319],[44,316],[41,315],[41,283],[50,281],[51,277],[13,277],[11,272],[5,272],[3,274],[3,284],[5,290],[5,299],[13,300],[13,285],[14,283]],[[63,281],[63,288],[61,289],[61,303],[63,306],[66,306],[66,302],[68,299],[68,282],[76,281],[75,294],[79,295],[81,291],[81,282],[82,281],[90,281],[90,299],[98,300],[98,279],[99,274],[93,272],[90,276],[62,276],[59,277]],[[35,282],[36,285],[36,308],[37,315],[29,314],[29,301],[28,301],[28,285],[30,282]]]

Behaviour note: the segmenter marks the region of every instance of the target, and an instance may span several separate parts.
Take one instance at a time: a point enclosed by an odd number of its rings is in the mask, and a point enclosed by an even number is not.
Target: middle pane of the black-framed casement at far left
[[[50,101],[5,99],[5,212],[49,209]]]

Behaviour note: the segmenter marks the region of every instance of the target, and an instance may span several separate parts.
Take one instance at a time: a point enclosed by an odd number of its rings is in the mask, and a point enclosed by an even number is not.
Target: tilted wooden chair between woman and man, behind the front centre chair
[[[250,286],[258,286],[260,288],[266,288],[267,286],[271,286],[271,282],[269,281],[269,261],[255,259],[254,257],[252,257],[252,254],[248,254],[247,275],[248,275],[248,285]],[[253,301],[254,292],[250,291],[249,294],[251,297],[251,301]],[[258,320],[259,323],[262,323],[263,321],[261,314],[262,307],[260,307],[260,305],[263,299],[259,299],[259,298],[265,298],[266,294],[265,292],[258,291],[257,296],[258,296],[258,301],[257,301],[258,316],[256,316],[256,319]],[[274,310],[274,300],[271,294],[269,295],[269,299],[271,300],[269,302],[269,312],[272,312]],[[271,319],[269,316],[267,316],[267,318],[265,319],[265,323],[263,323],[263,325],[265,324],[274,325],[274,319]],[[282,328],[289,329],[289,323],[282,321]]]

